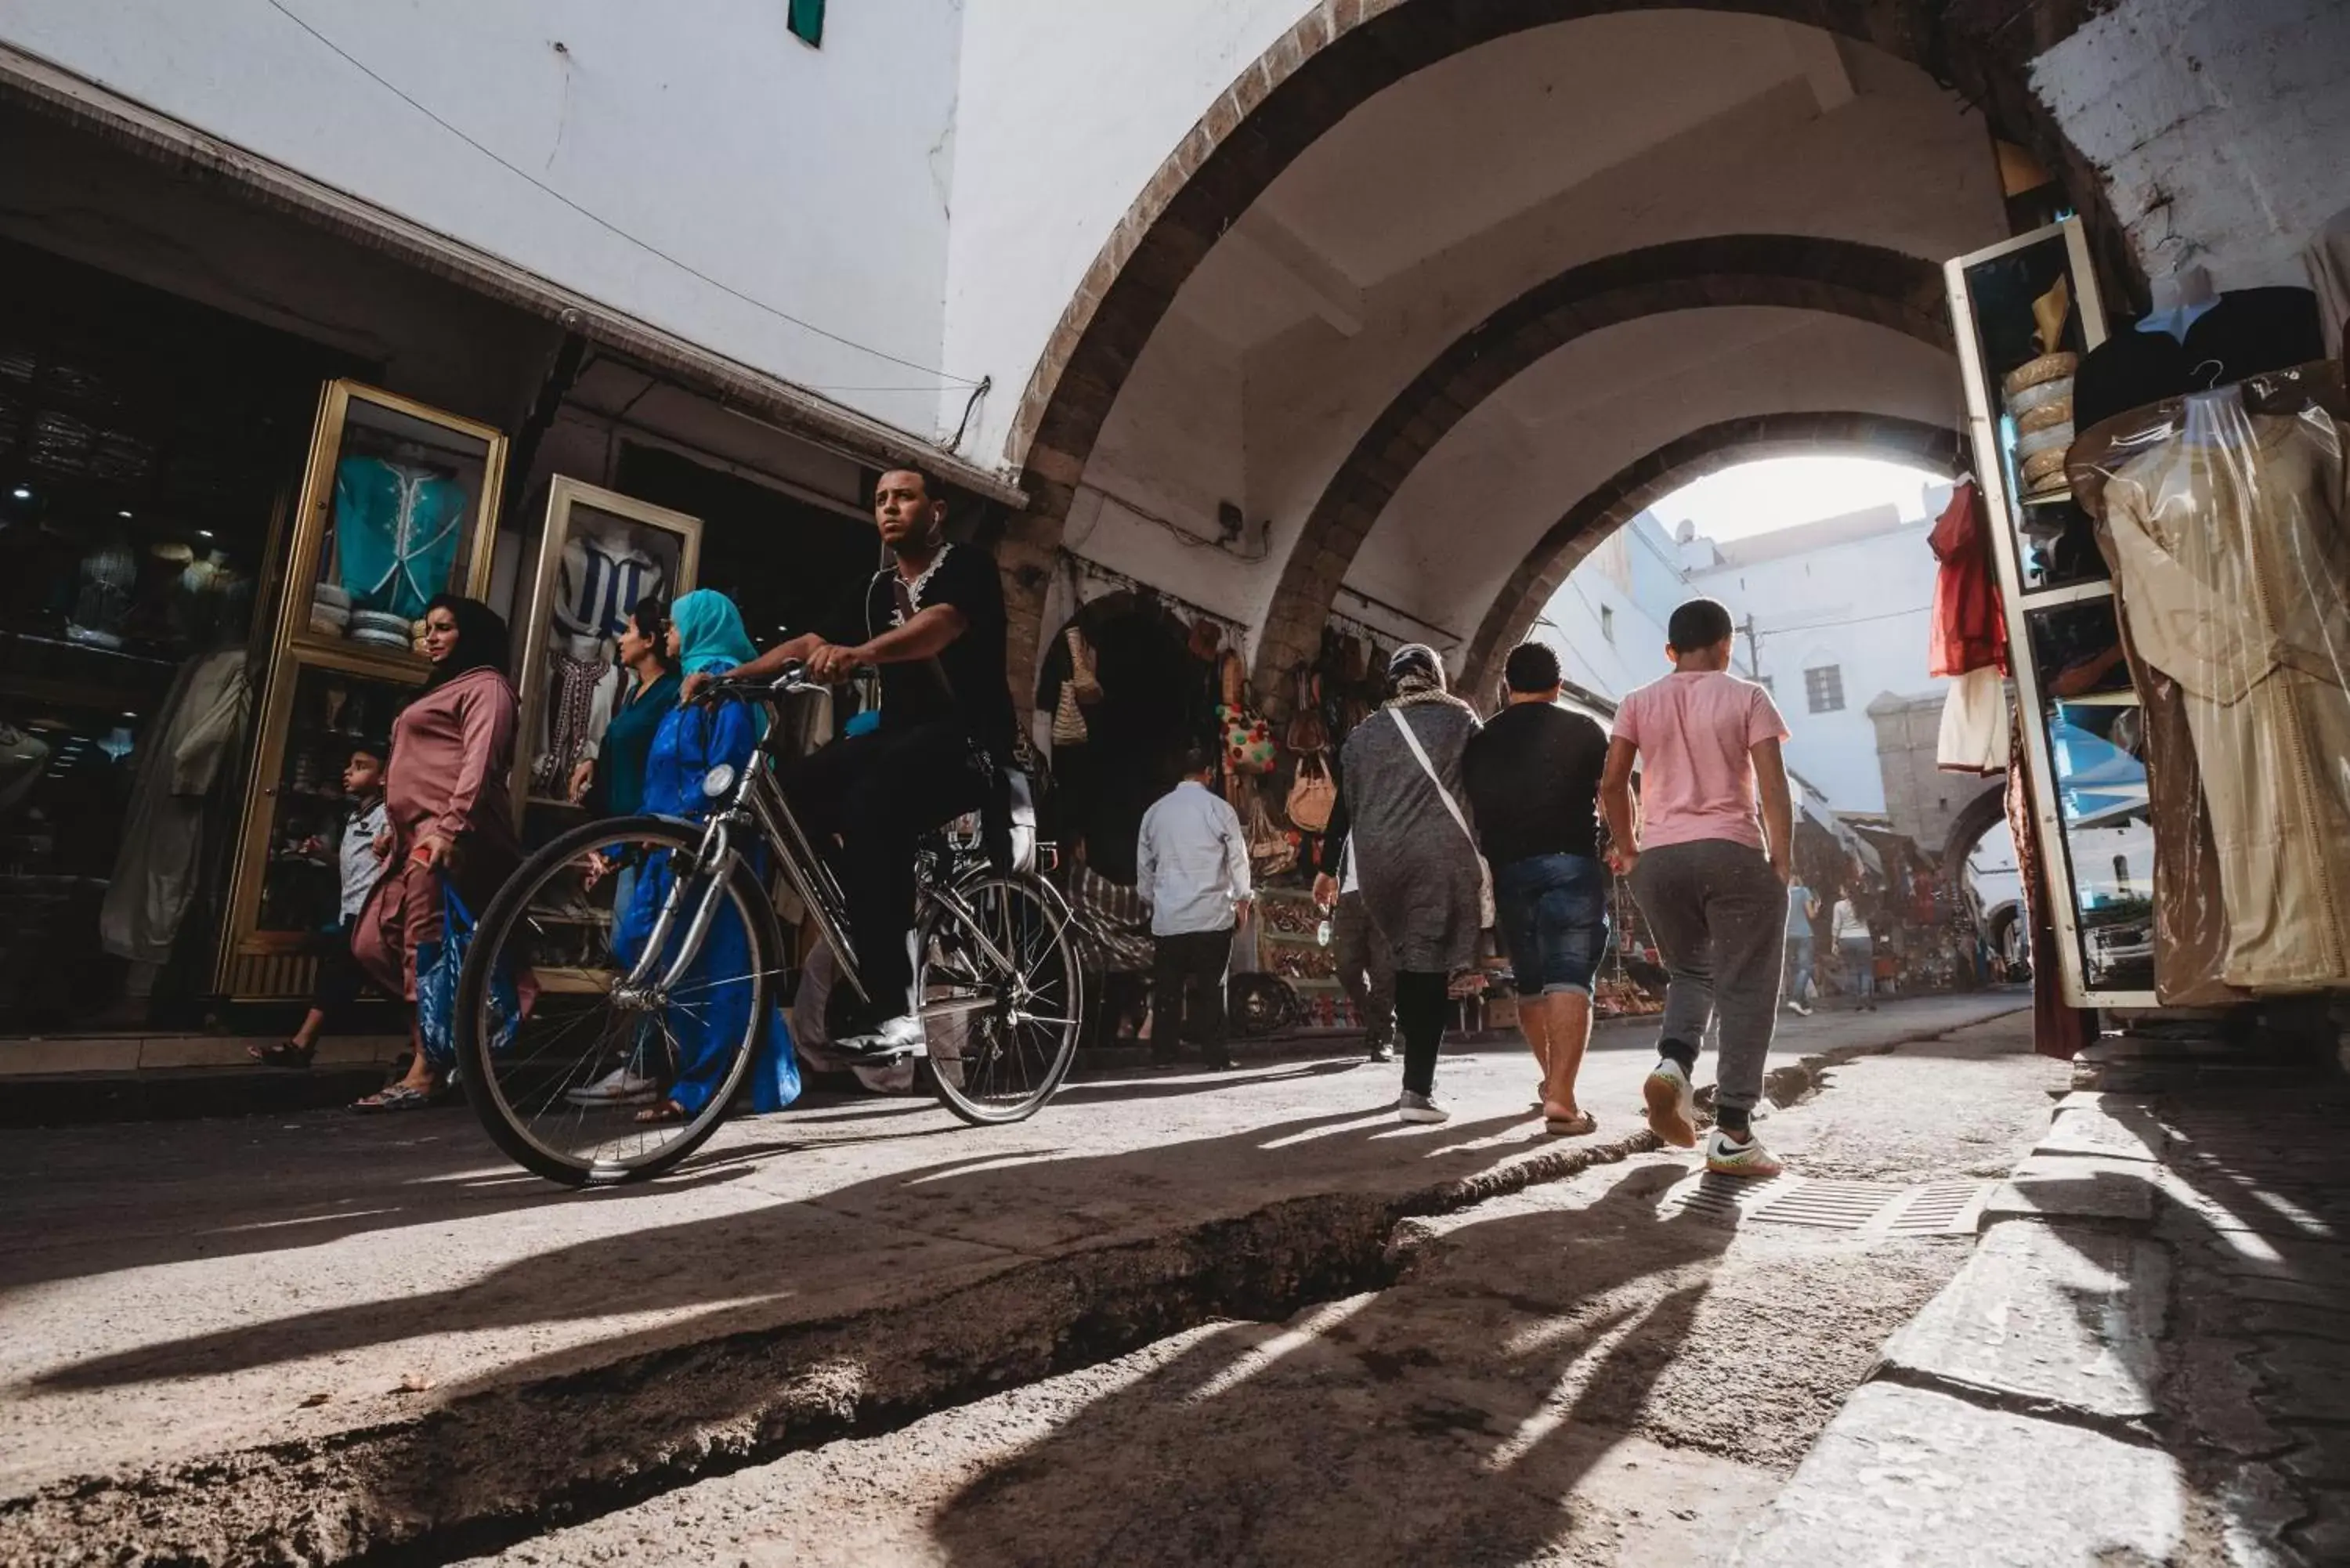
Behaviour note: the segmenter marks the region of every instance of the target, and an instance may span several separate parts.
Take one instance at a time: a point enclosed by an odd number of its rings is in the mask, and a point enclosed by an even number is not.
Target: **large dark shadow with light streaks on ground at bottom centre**
[[[1673,1175],[1473,1220],[1377,1295],[1208,1333],[964,1488],[933,1540],[975,1568],[1539,1559],[1734,1234],[1659,1218]]]

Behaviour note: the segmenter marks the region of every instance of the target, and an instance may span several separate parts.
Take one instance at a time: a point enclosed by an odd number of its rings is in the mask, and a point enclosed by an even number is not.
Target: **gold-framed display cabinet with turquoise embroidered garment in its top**
[[[221,994],[306,997],[317,952],[341,940],[343,762],[357,741],[385,745],[423,684],[432,595],[486,592],[503,477],[498,430],[327,383],[266,651]]]

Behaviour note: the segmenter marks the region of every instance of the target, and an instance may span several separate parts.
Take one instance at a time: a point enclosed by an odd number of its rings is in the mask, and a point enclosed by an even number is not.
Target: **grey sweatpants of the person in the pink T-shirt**
[[[1723,1110],[1762,1098],[1762,1058],[1779,1023],[1779,969],[1786,959],[1786,884],[1760,849],[1699,839],[1640,851],[1631,891],[1664,954],[1668,1056],[1697,1058],[1720,1013],[1716,1077]]]

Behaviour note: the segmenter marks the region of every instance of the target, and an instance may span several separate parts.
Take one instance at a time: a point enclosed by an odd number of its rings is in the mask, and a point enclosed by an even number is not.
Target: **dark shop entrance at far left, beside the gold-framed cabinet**
[[[0,1032],[200,1023],[313,343],[0,242]]]

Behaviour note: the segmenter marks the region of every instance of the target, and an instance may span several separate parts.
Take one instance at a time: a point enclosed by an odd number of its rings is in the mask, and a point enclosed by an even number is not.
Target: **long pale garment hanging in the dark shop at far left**
[[[118,959],[172,957],[204,858],[204,797],[237,750],[249,705],[244,649],[200,654],[172,679],[141,748],[122,849],[99,905],[99,940]]]

